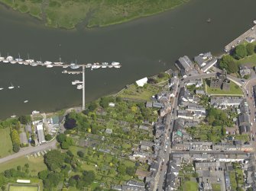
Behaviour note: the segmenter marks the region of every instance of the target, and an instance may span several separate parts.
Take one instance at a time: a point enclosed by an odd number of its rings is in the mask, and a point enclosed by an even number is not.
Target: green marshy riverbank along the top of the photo
[[[0,0],[5,5],[45,21],[49,27],[71,29],[120,24],[175,8],[189,0]]]

